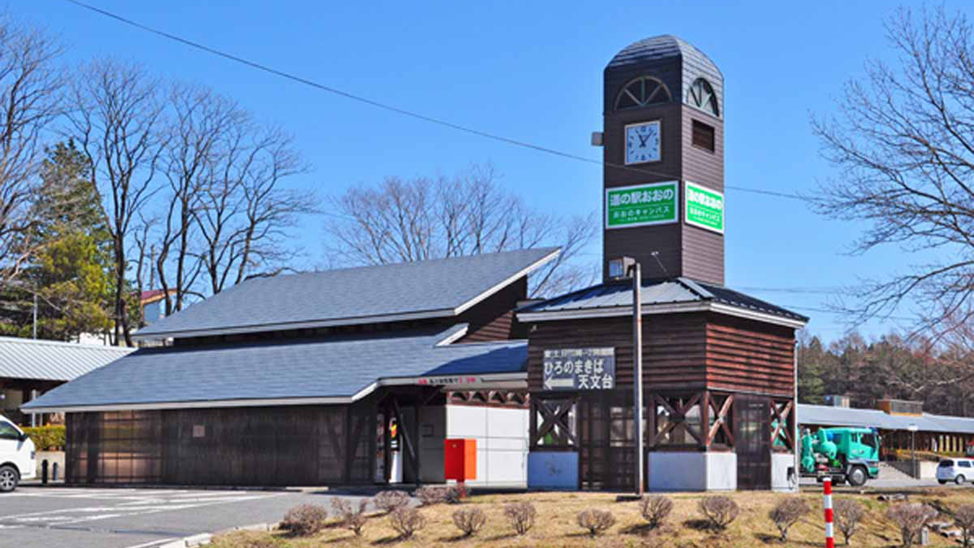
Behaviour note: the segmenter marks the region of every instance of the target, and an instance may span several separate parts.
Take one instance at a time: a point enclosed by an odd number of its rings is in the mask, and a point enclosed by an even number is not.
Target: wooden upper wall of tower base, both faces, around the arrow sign
[[[528,386],[543,390],[543,352],[614,346],[617,386],[632,386],[629,317],[537,324],[528,346]],[[794,382],[791,328],[703,312],[643,317],[643,380],[650,390],[725,389],[790,396]]]

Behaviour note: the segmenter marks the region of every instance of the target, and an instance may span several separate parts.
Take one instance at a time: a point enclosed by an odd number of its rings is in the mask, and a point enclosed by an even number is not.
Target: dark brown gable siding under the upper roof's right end
[[[514,307],[527,296],[528,278],[525,276],[465,310],[457,319],[457,323],[469,325],[461,342],[523,338],[525,333],[514,318]]]

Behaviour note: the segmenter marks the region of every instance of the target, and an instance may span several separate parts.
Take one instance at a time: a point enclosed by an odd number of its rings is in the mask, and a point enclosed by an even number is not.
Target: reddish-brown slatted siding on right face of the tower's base
[[[795,330],[711,314],[707,321],[707,384],[788,396],[795,382]]]

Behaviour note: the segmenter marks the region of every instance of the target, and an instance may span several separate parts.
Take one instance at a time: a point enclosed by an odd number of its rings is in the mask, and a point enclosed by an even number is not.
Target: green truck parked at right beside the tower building
[[[819,428],[802,434],[802,477],[859,487],[880,475],[880,444],[874,428]]]

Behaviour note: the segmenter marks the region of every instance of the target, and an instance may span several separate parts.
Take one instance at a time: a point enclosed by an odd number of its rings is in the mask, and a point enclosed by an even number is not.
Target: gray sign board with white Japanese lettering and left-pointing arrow
[[[616,349],[557,348],[544,351],[544,390],[612,390]]]

